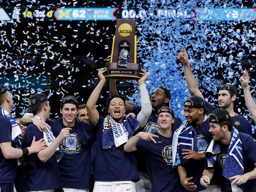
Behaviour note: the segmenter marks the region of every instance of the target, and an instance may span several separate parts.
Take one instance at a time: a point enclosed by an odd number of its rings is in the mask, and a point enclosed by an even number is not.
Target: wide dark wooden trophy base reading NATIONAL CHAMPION
[[[116,68],[117,63],[106,63],[108,70],[103,74],[107,79],[136,80],[141,78],[141,65],[128,63],[127,68]]]

